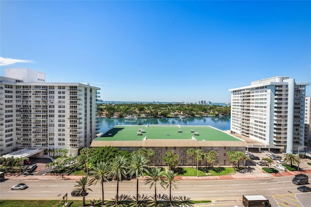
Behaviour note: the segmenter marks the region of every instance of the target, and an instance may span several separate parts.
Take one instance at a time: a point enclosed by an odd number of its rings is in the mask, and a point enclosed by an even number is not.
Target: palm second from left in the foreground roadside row
[[[102,186],[102,205],[104,206],[104,183],[108,181],[108,164],[106,162],[99,162],[96,166],[93,166],[90,173],[90,183],[96,185],[97,182],[101,183]]]

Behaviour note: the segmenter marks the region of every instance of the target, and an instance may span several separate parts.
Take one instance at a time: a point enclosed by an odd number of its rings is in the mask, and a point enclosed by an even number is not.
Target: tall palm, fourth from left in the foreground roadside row
[[[136,183],[136,205],[138,205],[138,178],[139,176],[143,176],[143,173],[147,173],[148,168],[148,159],[139,154],[132,154],[130,158],[130,166],[129,173],[132,178],[135,175],[137,183]]]

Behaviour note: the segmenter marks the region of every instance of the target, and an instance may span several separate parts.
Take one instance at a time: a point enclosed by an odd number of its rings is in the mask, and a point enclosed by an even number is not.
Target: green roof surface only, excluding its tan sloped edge
[[[145,130],[142,135],[137,135],[139,129]],[[199,135],[194,135],[190,130],[194,130]],[[182,132],[178,132],[182,130]],[[210,126],[176,126],[176,125],[118,125],[104,133],[96,141],[142,141],[148,139],[191,139],[196,138],[198,141],[238,141],[225,132],[214,129]]]

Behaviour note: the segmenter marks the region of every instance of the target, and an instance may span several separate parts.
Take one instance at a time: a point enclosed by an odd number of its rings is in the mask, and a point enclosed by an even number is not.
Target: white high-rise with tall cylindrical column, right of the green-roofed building
[[[305,90],[311,83],[273,77],[230,89],[231,133],[294,153],[304,146]]]

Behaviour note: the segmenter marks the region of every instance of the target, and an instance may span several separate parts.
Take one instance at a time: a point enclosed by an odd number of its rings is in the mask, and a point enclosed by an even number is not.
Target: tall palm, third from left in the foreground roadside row
[[[127,163],[127,159],[123,155],[117,155],[110,163],[110,175],[113,180],[117,181],[117,206],[119,205],[119,181],[122,180],[122,176],[126,176]]]

